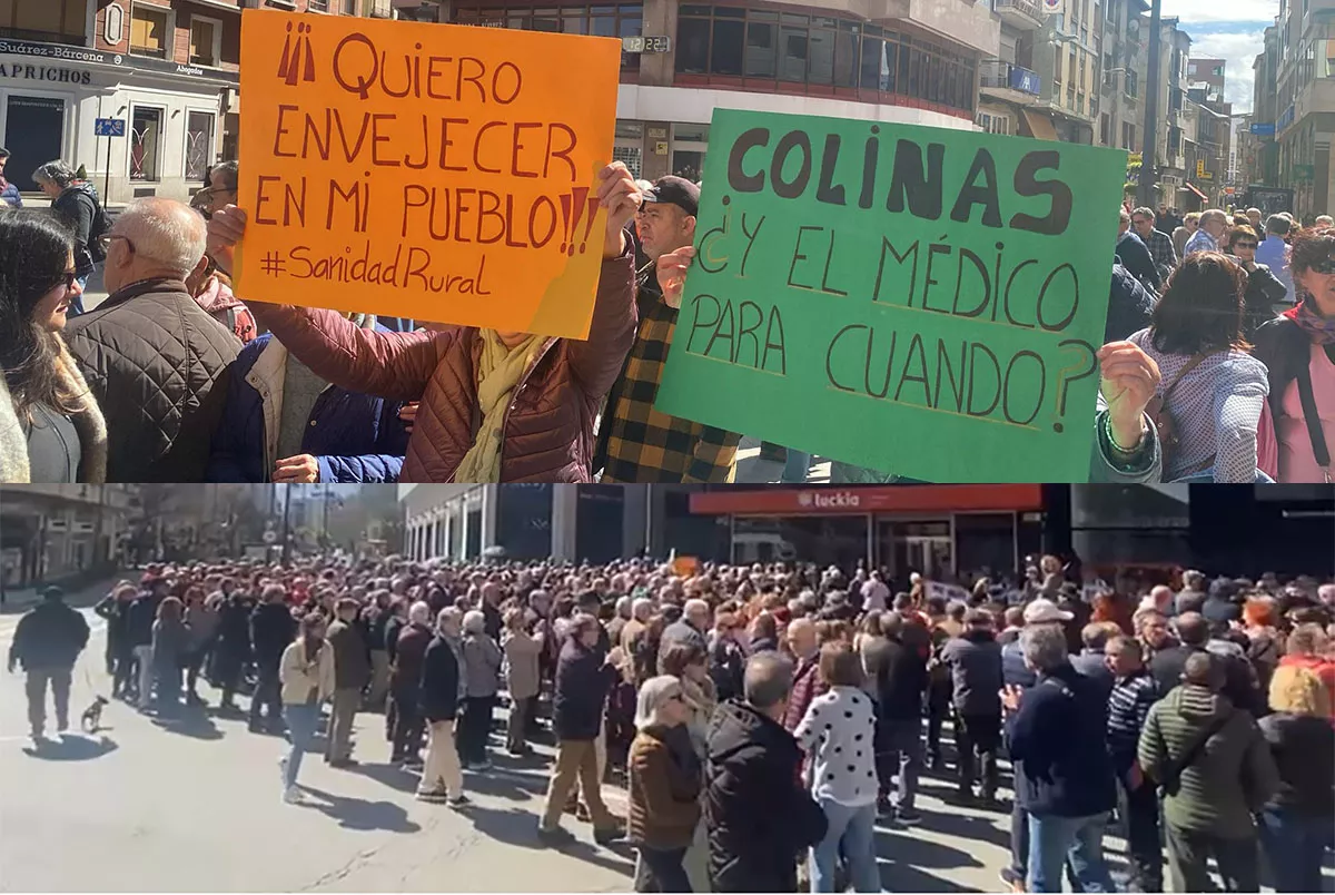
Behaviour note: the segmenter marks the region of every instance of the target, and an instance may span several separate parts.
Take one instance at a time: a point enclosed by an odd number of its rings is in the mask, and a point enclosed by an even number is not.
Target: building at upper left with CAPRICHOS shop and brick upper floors
[[[187,199],[236,158],[240,13],[391,15],[388,0],[0,0],[0,146],[28,192],[52,159],[109,204]],[[96,122],[124,136],[97,136]]]

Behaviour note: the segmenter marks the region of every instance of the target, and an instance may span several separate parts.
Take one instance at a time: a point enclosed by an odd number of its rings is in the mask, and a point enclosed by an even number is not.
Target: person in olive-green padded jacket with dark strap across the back
[[[1212,856],[1231,892],[1260,886],[1256,824],[1279,788],[1279,772],[1255,719],[1224,696],[1220,659],[1187,657],[1181,684],[1145,719],[1139,759],[1164,789],[1169,883],[1175,892],[1208,892]]]

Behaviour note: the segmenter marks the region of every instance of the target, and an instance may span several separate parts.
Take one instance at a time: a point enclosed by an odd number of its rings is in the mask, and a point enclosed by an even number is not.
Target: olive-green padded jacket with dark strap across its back
[[[1279,771],[1255,719],[1228,697],[1192,684],[1169,691],[1140,732],[1140,767],[1161,783],[1168,761],[1218,719],[1227,720],[1181,772],[1177,791],[1164,797],[1164,820],[1179,830],[1250,839],[1256,835],[1252,812],[1279,788]]]

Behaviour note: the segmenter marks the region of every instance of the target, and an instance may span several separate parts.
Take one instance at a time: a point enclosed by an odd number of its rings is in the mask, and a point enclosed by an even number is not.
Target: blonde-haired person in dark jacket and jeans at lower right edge
[[[1260,729],[1279,768],[1279,789],[1260,814],[1260,842],[1275,891],[1322,891],[1322,854],[1335,816],[1335,728],[1331,699],[1303,665],[1280,665],[1270,679],[1271,715]]]

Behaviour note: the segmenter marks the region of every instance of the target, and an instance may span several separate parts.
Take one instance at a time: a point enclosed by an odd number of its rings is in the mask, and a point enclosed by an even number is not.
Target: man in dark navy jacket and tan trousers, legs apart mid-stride
[[[602,727],[602,711],[617,668],[610,655],[599,653],[602,625],[590,614],[574,617],[570,633],[557,659],[555,695],[551,701],[553,731],[557,735],[557,763],[547,787],[547,800],[538,823],[546,839],[569,836],[561,826],[561,812],[575,785],[583,789],[593,820],[594,839],[607,844],[617,839],[621,822],[602,800],[595,741]]]

